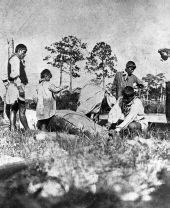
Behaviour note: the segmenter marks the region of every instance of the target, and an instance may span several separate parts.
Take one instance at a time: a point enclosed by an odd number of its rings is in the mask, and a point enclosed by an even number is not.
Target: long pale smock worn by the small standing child
[[[38,120],[48,119],[55,115],[56,101],[53,93],[61,89],[53,85],[50,81],[43,81],[37,87],[37,107],[36,115]]]

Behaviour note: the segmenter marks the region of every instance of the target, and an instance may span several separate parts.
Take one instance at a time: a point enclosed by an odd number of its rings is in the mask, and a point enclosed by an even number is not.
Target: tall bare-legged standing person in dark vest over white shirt
[[[25,86],[28,84],[25,72],[24,57],[27,47],[18,44],[15,53],[8,60],[7,78],[3,80],[6,86],[6,114],[10,120],[10,130],[16,129],[16,114],[19,110],[19,118],[25,130],[28,130],[28,122],[25,115]]]

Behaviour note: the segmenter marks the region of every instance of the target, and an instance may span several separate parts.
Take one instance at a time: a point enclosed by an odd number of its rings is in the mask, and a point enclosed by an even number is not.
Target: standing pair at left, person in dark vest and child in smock
[[[10,130],[16,130],[16,115],[19,111],[19,119],[25,130],[29,130],[26,118],[25,86],[28,84],[28,78],[25,71],[24,57],[27,53],[27,47],[19,44],[15,48],[15,53],[9,58],[7,70],[2,81],[6,88],[5,103],[6,115],[10,121]],[[55,94],[65,89],[65,87],[56,87],[51,84],[52,74],[50,70],[44,69],[40,75],[39,85],[36,95],[36,115],[37,126],[46,131],[49,120],[55,115],[56,102]]]

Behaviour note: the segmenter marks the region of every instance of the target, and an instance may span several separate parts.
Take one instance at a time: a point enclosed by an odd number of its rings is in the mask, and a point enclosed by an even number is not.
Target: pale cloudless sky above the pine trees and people
[[[170,48],[169,11],[169,0],[0,0],[0,66],[7,61],[7,39],[26,44],[27,74],[34,85],[47,67],[44,47],[75,35],[89,51],[97,42],[110,44],[118,70],[132,60],[139,78],[163,72],[170,79],[170,60],[162,62],[158,54]],[[56,69],[50,69],[59,83]],[[82,69],[73,85],[89,78]]]

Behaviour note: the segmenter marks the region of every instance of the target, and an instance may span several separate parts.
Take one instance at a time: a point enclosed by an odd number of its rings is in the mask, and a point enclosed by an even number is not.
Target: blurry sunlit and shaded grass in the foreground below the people
[[[167,142],[158,134],[147,140],[106,133],[42,137],[1,128],[0,154],[30,164],[0,182],[0,207],[123,207],[124,201],[149,200],[163,183]]]

